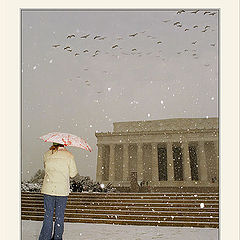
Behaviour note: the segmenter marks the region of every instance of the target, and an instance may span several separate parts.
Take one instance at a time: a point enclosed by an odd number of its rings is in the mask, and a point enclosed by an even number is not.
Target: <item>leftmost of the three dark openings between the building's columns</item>
[[[159,181],[167,181],[167,149],[158,148],[158,178]]]

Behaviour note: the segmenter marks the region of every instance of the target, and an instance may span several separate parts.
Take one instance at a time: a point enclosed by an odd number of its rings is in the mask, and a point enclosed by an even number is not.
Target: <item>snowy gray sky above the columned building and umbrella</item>
[[[23,11],[23,179],[43,168],[48,132],[87,140],[93,152],[69,150],[95,180],[95,132],[113,122],[217,117],[218,13],[192,11]]]

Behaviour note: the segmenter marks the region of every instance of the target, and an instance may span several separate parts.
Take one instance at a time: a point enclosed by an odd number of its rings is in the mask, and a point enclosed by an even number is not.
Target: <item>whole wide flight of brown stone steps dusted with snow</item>
[[[42,221],[43,197],[22,192],[22,219]],[[71,193],[66,222],[219,227],[217,193]]]

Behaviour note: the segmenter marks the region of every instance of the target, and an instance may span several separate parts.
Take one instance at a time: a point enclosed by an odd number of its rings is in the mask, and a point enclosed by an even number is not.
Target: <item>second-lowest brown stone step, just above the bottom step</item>
[[[22,212],[23,215],[44,216],[44,211]],[[65,213],[66,218],[95,218],[95,219],[119,219],[119,220],[145,220],[145,221],[186,221],[186,222],[218,222],[218,217],[191,217],[191,216],[153,216],[153,215],[122,215],[122,214],[88,214]]]

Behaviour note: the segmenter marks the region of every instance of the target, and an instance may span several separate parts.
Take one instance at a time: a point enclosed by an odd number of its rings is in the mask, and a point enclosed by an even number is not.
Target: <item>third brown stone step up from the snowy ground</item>
[[[121,209],[120,209],[121,210]],[[43,212],[43,208],[22,207],[22,212]],[[188,211],[131,211],[131,210],[98,210],[98,209],[66,209],[65,213],[89,214],[123,214],[123,215],[155,215],[155,216],[192,216],[192,217],[218,217],[218,212],[188,212]]]

